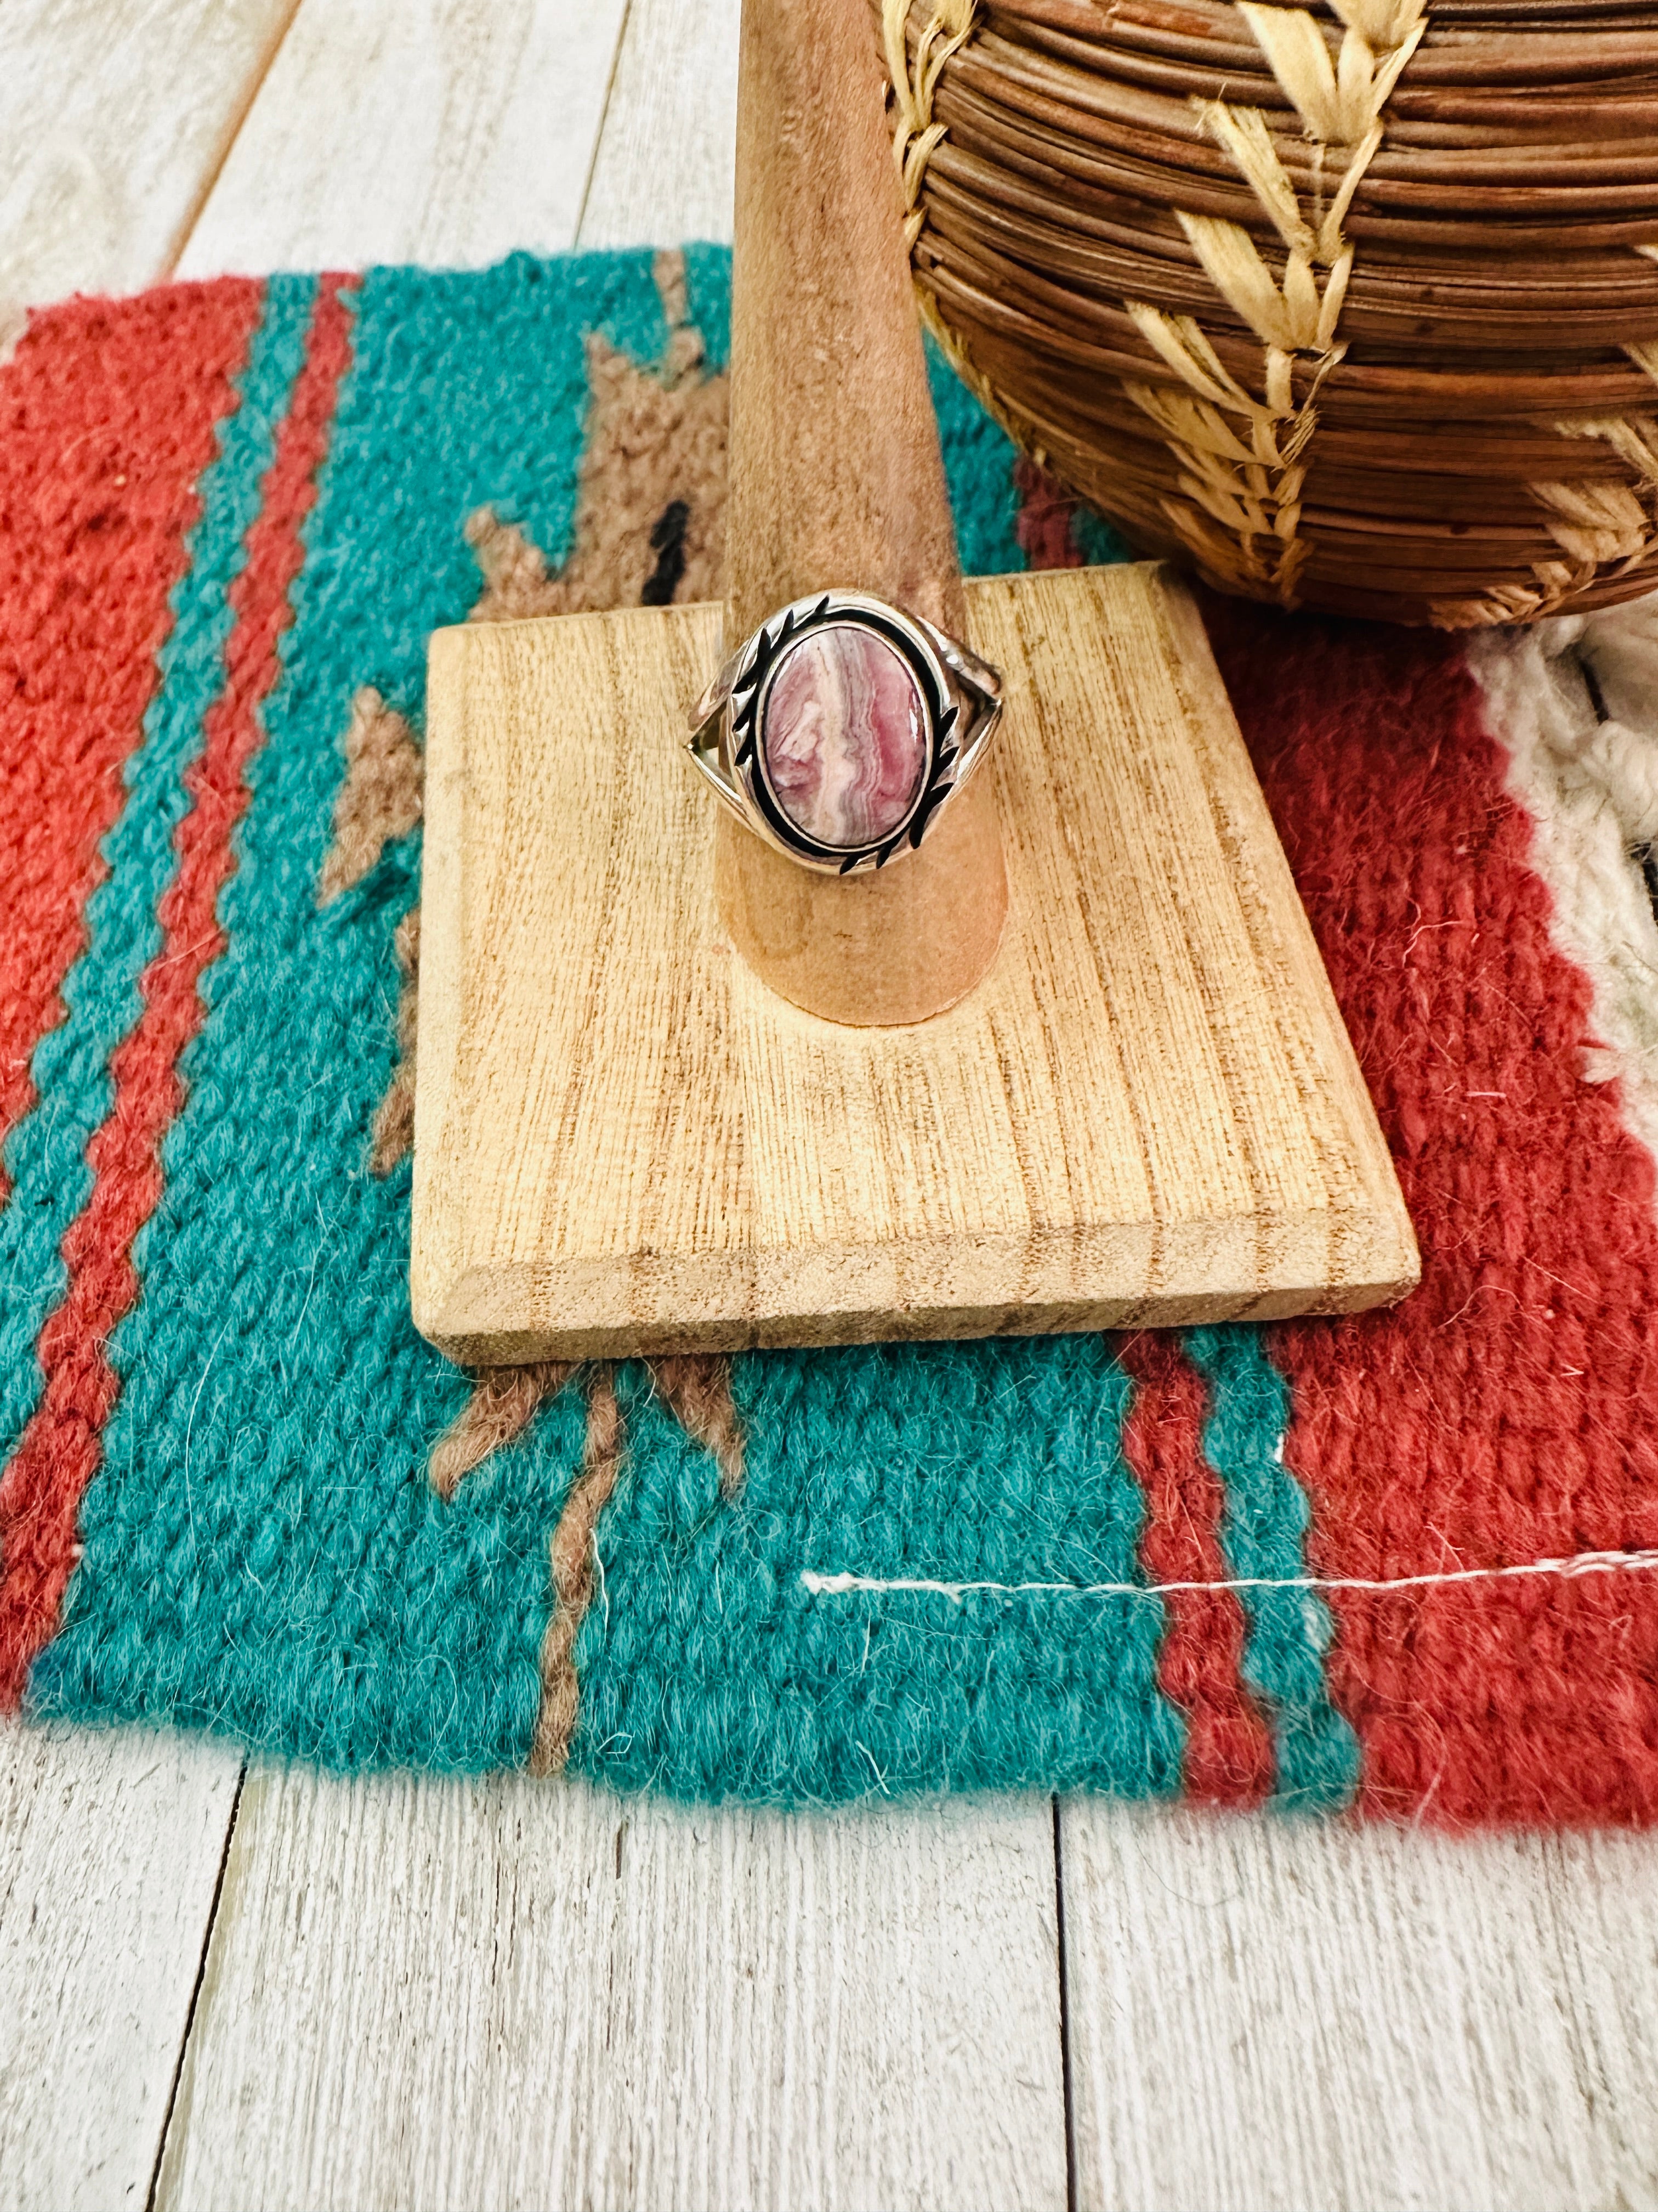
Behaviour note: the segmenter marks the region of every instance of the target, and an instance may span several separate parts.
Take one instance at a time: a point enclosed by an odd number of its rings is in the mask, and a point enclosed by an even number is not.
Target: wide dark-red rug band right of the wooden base
[[[1461,650],[1211,606],[1222,672],[1424,1252],[1391,1314],[1284,1325],[1324,1575],[1658,1544],[1654,1164],[1581,1079],[1589,989]],[[1364,1809],[1658,1818],[1658,1584],[1331,1593]]]

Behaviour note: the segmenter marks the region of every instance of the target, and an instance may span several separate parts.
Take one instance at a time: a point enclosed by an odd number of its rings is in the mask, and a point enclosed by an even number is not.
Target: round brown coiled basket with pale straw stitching
[[[1658,584],[1658,4],[875,0],[922,307],[1225,591]]]

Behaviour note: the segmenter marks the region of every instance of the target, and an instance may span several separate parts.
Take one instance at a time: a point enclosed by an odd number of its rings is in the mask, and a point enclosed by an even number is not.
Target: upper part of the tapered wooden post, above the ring
[[[867,0],[745,0],[727,650],[831,584],[966,619]]]

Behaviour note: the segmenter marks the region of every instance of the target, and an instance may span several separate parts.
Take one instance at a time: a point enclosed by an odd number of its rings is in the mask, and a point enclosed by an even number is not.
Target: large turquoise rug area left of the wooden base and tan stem
[[[475,276],[371,270],[354,312],[283,675],[248,770],[228,931],[183,1055],[166,1190],[115,1332],[122,1398],[35,1712],[217,1725],[329,1765],[522,1765],[548,1535],[581,1464],[575,1391],[427,1482],[466,1378],[409,1321],[409,1168],[369,1172],[396,1060],[391,933],[418,841],[316,905],[351,695],[416,726],[427,637],[480,593],[484,502],[568,553],[584,332],[665,345],[650,254]]]

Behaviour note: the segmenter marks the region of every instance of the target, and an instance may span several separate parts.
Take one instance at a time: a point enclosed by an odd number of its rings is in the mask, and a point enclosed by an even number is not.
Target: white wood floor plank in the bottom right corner
[[[1658,2203],[1649,1836],[1068,1803],[1077,2203]]]

